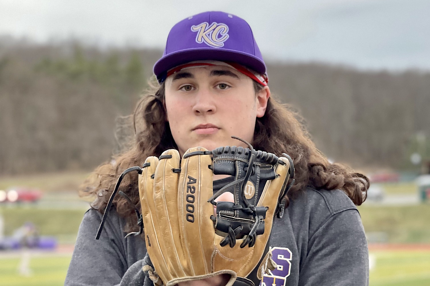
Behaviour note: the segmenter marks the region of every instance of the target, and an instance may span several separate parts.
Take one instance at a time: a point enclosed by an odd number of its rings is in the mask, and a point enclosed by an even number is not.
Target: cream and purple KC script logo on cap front
[[[228,39],[228,26],[226,24],[212,22],[203,22],[198,25],[191,26],[191,31],[197,32],[196,42],[199,44],[205,43],[210,47],[220,48],[224,46],[224,42]]]

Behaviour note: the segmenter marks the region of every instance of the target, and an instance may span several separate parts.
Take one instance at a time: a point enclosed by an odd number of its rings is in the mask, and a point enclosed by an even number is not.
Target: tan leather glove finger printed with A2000
[[[181,163],[178,186],[179,226],[181,243],[190,265],[188,276],[212,272],[211,256],[215,239],[213,206],[207,200],[213,194],[213,173],[211,155],[193,155],[194,151],[207,151],[203,147],[190,148]]]

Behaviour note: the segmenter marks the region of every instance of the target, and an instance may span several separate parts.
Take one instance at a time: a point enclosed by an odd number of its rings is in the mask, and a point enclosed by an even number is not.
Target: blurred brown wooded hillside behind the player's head
[[[132,113],[161,54],[0,41],[0,175],[89,170],[109,160],[116,124]],[[267,69],[274,96],[300,112],[332,160],[408,169],[412,153],[430,157],[429,72]]]

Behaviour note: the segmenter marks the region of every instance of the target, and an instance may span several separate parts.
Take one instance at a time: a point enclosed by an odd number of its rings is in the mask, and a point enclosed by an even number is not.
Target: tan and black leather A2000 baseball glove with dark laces
[[[147,158],[138,184],[147,252],[155,268],[144,271],[155,285],[230,274],[227,286],[255,286],[276,267],[269,236],[274,216],[282,217],[294,167],[286,154],[278,158],[249,146],[191,148],[182,160],[171,149]],[[213,174],[235,180],[214,194]],[[234,202],[215,202],[227,191]]]

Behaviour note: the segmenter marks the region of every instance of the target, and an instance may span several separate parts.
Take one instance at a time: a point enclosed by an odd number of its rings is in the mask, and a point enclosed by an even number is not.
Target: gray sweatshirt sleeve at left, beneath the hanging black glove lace
[[[64,285],[142,285],[145,279],[142,271],[144,259],[130,259],[117,214],[109,215],[99,240],[95,240],[101,217],[92,209],[84,215]],[[144,253],[140,256],[143,257]]]

